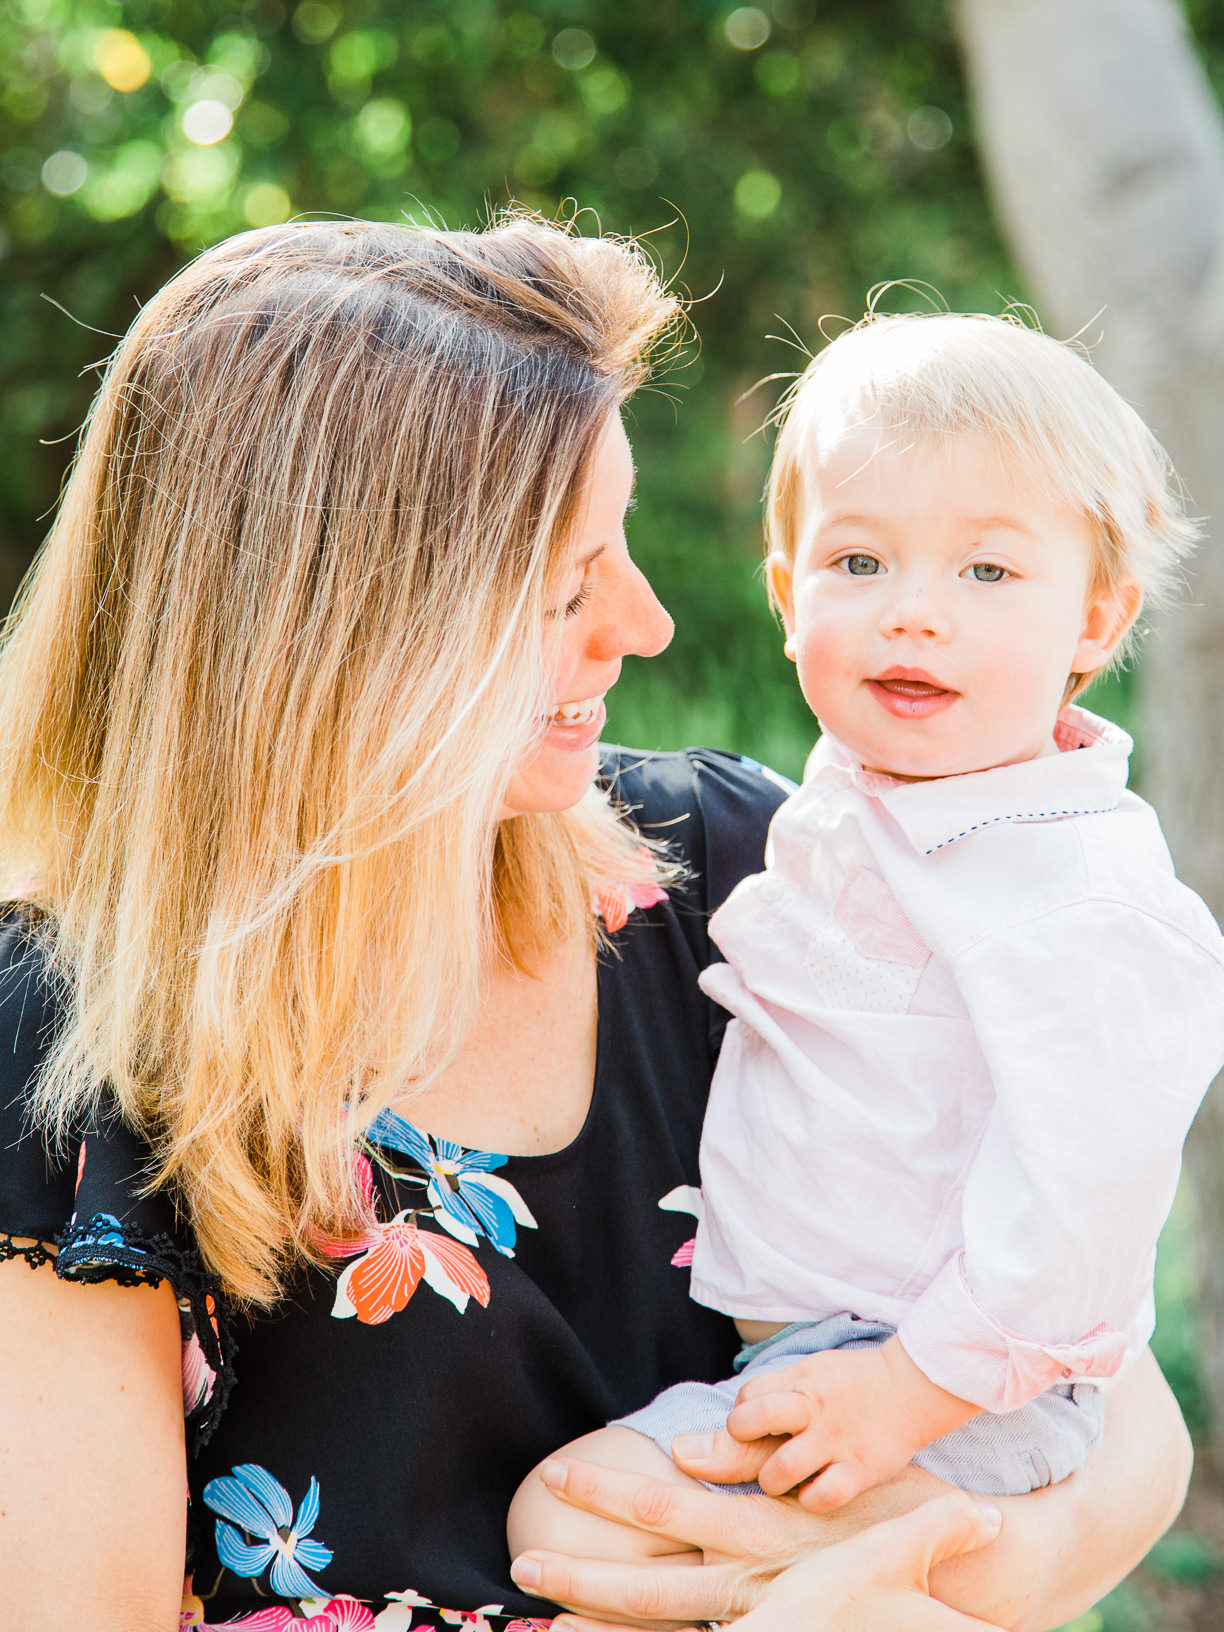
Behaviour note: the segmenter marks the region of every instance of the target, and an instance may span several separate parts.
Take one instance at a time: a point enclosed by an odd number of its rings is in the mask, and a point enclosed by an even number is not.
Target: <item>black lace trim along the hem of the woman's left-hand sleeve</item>
[[[96,1213],[80,1222],[70,1219],[55,1235],[59,1255],[42,1244],[38,1262],[54,1262],[64,1281],[114,1281],[119,1286],[160,1286],[170,1281],[178,1297],[184,1346],[194,1338],[212,1373],[207,1392],[186,1410],[188,1454],[194,1456],[217,1428],[233,1387],[233,1307],[224,1297],[220,1283],[206,1275],[199,1260],[184,1252],[170,1235],[140,1235],[119,1224],[108,1213]],[[15,1253],[29,1258],[29,1250]],[[0,1239],[0,1257],[3,1239]]]

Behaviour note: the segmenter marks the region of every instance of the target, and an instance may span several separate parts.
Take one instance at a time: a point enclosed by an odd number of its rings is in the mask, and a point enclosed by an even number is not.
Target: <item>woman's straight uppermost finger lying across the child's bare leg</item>
[[[669,1485],[570,1457],[550,1457],[540,1467],[540,1479],[553,1495],[576,1508],[703,1552],[770,1559],[796,1542],[796,1529],[801,1532],[801,1526],[787,1523],[792,1518],[787,1508],[765,1497],[736,1497],[733,1501],[700,1485]],[[695,1573],[685,1572],[690,1577]],[[708,1616],[692,1611],[692,1619]]]

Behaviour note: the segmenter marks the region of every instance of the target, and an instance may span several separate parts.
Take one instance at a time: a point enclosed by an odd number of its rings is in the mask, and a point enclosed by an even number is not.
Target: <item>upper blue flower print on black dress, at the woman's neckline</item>
[[[424,1183],[434,1221],[457,1240],[477,1247],[486,1237],[506,1258],[514,1257],[517,1226],[535,1229],[535,1219],[514,1185],[493,1173],[509,1157],[491,1151],[465,1151],[450,1139],[437,1139],[413,1128],[395,1111],[380,1111],[369,1131],[374,1160],[400,1182]],[[388,1159],[398,1151],[403,1165]]]

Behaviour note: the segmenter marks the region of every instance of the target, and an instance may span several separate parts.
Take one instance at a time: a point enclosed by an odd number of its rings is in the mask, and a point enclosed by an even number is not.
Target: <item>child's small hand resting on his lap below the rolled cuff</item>
[[[831,1513],[976,1413],[919,1371],[893,1337],[880,1348],[827,1350],[752,1377],[705,1456],[685,1454],[682,1443],[674,1451],[698,1479],[718,1466],[718,1477],[756,1477],[772,1497],[798,1485],[800,1506]],[[723,1470],[728,1462],[734,1474]]]

